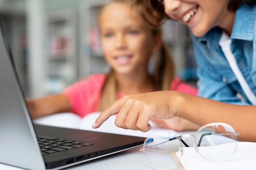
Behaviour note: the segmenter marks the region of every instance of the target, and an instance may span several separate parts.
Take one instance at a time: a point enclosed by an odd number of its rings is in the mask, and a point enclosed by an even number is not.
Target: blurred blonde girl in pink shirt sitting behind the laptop
[[[174,64],[162,44],[159,28],[151,28],[138,11],[131,10],[132,0],[112,0],[103,7],[99,29],[104,57],[111,66],[106,74],[92,75],[67,87],[62,94],[27,100],[33,118],[53,113],[73,112],[81,117],[102,111],[117,99],[130,94],[158,90],[178,90],[197,94],[197,90],[174,77]],[[152,74],[148,73],[150,56],[159,51]],[[157,121],[164,124],[166,120]],[[181,118],[173,121],[175,130],[197,129]],[[175,124],[174,124],[175,123]]]

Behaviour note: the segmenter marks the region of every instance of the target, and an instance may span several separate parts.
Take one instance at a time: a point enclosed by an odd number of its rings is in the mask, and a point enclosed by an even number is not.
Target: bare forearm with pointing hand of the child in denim
[[[117,114],[115,124],[124,129],[151,129],[149,120],[184,118],[203,126],[213,122],[224,122],[240,133],[240,141],[256,142],[256,106],[232,105],[224,102],[193,96],[177,91],[157,91],[124,96],[101,112],[93,124],[98,128],[111,115]]]

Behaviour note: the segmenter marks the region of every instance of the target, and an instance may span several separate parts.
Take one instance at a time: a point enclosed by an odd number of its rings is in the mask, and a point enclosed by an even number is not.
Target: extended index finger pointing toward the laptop
[[[122,99],[123,98],[117,100],[112,105],[107,107],[104,111],[102,111],[99,117],[96,119],[96,121],[92,125],[92,128],[94,129],[98,128],[99,126],[101,126],[101,124],[103,124],[103,122],[108,120],[110,116],[117,114],[120,111],[120,109],[123,107]]]

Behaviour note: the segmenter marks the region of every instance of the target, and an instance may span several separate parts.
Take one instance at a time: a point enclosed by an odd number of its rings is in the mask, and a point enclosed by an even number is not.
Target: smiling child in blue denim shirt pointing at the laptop
[[[119,113],[117,126],[148,131],[150,119],[176,116],[200,126],[225,122],[240,140],[256,142],[256,0],[136,0],[134,7],[152,26],[169,17],[189,27],[202,97],[174,91],[126,96],[93,127]]]

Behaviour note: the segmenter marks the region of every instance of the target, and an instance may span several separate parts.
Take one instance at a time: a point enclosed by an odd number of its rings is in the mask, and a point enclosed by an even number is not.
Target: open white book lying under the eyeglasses
[[[232,144],[205,146],[210,155],[221,154],[230,149]],[[180,157],[181,152],[177,152]],[[176,157],[176,160],[177,160]],[[208,161],[193,147],[184,147],[180,162],[180,170],[255,170],[256,169],[256,142],[238,142],[234,155],[225,161]]]

